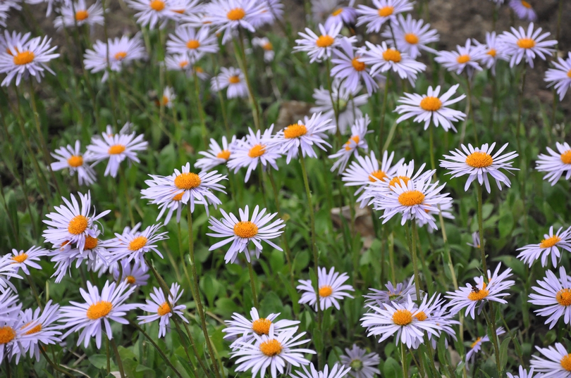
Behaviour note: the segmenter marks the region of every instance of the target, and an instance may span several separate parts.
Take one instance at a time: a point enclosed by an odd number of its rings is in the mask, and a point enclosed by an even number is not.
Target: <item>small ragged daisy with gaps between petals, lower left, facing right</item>
[[[158,287],[153,288],[153,292],[149,294],[151,299],[147,299],[147,304],[140,305],[139,308],[151,315],[137,316],[140,320],[139,324],[145,324],[159,320],[159,338],[166,336],[166,332],[171,332],[171,316],[178,315],[181,320],[188,323],[183,311],[185,305],[177,305],[180,297],[183,296],[184,290],[180,290],[177,283],[171,284],[171,292],[168,294],[168,301],[164,297],[164,293]],[[172,306],[172,308],[171,308]]]

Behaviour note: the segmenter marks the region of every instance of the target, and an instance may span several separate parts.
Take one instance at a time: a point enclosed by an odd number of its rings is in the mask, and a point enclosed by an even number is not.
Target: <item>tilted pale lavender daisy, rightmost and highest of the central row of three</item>
[[[325,118],[321,113],[314,113],[311,118],[305,116],[303,121],[298,120],[297,123],[278,131],[269,144],[276,146],[280,153],[287,154],[285,163],[288,164],[291,159],[297,158],[300,150],[304,157],[317,158],[314,146],[323,151],[326,151],[324,146],[331,148],[331,144],[325,141],[325,132],[334,128],[331,119]]]

